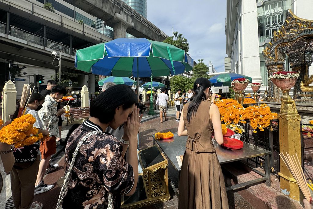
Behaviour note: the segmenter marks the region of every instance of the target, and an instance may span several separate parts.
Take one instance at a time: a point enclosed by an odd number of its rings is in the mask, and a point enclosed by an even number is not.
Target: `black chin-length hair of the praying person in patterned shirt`
[[[122,105],[125,110],[136,102],[137,95],[131,87],[119,84],[111,86],[96,97],[90,104],[89,113],[91,117],[98,118],[100,123],[109,123],[114,119],[117,107]]]

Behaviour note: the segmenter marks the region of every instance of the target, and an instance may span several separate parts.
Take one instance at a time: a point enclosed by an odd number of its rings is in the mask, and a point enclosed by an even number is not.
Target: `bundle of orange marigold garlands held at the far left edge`
[[[38,129],[33,128],[36,119],[31,115],[16,118],[9,125],[0,130],[0,142],[14,144],[16,148],[31,145],[43,138]]]

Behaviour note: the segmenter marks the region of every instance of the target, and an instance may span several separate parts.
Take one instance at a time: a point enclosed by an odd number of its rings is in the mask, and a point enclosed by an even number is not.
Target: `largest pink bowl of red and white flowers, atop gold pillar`
[[[272,76],[269,76],[271,80],[278,88],[283,91],[282,98],[291,98],[289,96],[290,89],[295,86],[295,81],[299,77],[299,73],[294,71],[279,71],[274,73]]]

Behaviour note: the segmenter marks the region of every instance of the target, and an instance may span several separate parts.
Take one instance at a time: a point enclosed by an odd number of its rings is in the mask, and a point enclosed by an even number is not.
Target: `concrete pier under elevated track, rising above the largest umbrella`
[[[123,11],[121,11],[120,14],[114,14],[113,22],[113,39],[125,38],[126,30],[134,27],[134,23],[131,21],[131,16],[127,15]]]

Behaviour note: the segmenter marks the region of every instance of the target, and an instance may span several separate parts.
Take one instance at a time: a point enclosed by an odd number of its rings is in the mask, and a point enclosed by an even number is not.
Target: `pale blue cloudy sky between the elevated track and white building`
[[[225,0],[147,0],[147,19],[168,36],[174,26],[188,40],[190,56],[210,60],[218,72],[227,56],[225,17]]]

